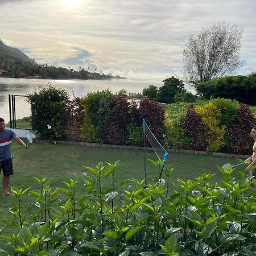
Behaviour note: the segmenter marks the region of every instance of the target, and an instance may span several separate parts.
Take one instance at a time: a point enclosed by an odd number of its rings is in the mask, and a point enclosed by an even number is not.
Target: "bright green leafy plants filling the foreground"
[[[158,167],[158,162],[152,161]],[[80,180],[52,189],[13,189],[15,209],[2,219],[0,251],[22,255],[253,255],[255,192],[252,177],[218,167],[223,179],[201,174],[196,181],[123,180],[114,184],[119,161],[85,167]],[[106,186],[106,180],[112,180]],[[77,196],[77,187],[84,194]],[[168,188],[172,187],[172,192]],[[22,205],[22,198],[31,207]],[[21,220],[21,221],[20,221]],[[6,232],[8,230],[8,232]]]

